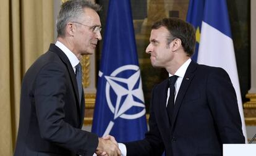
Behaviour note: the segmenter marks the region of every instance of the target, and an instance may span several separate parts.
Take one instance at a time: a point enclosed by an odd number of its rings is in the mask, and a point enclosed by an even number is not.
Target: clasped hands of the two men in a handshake
[[[103,138],[98,138],[99,143],[96,149],[96,154],[99,156],[121,156],[121,151],[118,148],[116,139],[113,136],[107,135]]]

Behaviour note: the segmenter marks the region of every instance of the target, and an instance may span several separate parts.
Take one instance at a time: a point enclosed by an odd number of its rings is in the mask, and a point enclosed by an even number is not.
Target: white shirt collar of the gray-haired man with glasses
[[[64,44],[62,44],[60,41],[56,41],[55,45],[58,46],[59,49],[61,49],[61,51],[63,51],[64,54],[67,55],[67,58],[69,59],[70,64],[72,65],[72,68],[75,68],[75,66],[79,64],[79,59],[77,59],[75,54],[72,51],[70,51]]]

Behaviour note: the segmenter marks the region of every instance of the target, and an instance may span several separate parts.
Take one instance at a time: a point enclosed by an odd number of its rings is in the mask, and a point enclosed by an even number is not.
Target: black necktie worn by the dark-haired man
[[[169,94],[169,99],[168,99],[168,104],[167,104],[167,112],[168,112],[168,117],[169,117],[169,123],[171,124],[171,118],[173,116],[173,110],[174,110],[174,92],[175,92],[175,82],[177,80],[178,76],[173,75],[169,77],[169,89],[170,89],[170,94]]]

